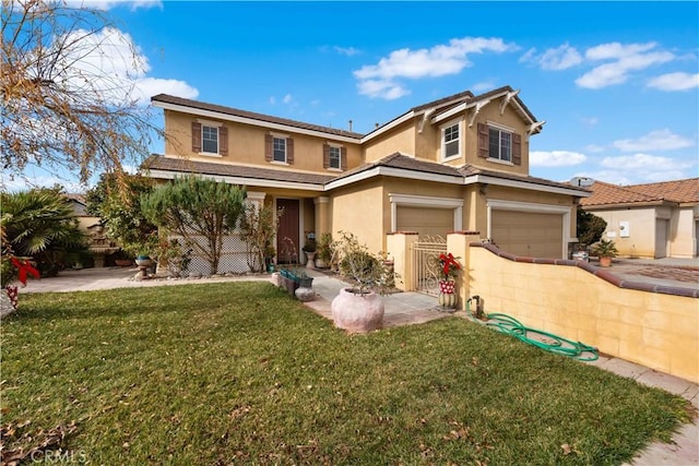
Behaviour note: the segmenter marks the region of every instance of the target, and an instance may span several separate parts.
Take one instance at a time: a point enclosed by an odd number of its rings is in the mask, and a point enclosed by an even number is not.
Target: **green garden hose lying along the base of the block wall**
[[[466,300],[466,312],[472,321],[489,326],[500,333],[512,335],[529,345],[536,346],[546,351],[557,355],[567,356],[569,358],[581,361],[594,361],[600,355],[597,348],[585,345],[580,342],[572,342],[553,333],[544,332],[536,328],[530,328],[511,315],[502,313],[484,314],[485,320],[478,319],[471,312],[471,300],[479,300],[474,296]]]

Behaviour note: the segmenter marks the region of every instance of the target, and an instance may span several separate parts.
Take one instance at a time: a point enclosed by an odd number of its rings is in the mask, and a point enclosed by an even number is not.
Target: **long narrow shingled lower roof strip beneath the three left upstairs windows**
[[[201,174],[224,177],[252,178],[271,181],[288,181],[323,186],[335,177],[308,174],[292,170],[275,170],[272,168],[250,167],[235,164],[215,164],[210,162],[196,162],[183,158],[164,157],[151,155],[144,163],[144,169],[165,170],[185,174]]]

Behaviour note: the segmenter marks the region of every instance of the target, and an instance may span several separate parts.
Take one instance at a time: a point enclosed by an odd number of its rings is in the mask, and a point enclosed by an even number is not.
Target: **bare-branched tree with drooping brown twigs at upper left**
[[[147,63],[104,12],[57,0],[2,0],[2,169],[27,164],[121,174],[158,130],[134,75]],[[125,39],[126,38],[126,39]]]

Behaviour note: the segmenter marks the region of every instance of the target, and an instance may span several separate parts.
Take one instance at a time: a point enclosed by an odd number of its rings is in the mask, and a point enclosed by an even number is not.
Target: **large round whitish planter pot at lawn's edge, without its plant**
[[[383,299],[374,291],[355,295],[353,288],[342,288],[330,309],[335,326],[351,333],[371,332],[383,322]]]

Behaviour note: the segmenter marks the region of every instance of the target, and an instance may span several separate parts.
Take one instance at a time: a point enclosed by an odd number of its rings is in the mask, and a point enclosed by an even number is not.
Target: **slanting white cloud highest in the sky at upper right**
[[[625,83],[632,71],[644,70],[654,64],[666,63],[675,59],[668,51],[655,51],[655,43],[647,44],[602,44],[589,48],[585,59],[589,61],[612,60],[600,64],[576,80],[580,87],[601,88]]]

